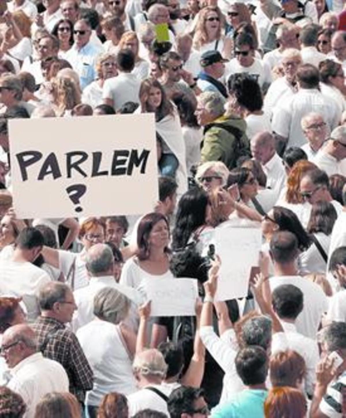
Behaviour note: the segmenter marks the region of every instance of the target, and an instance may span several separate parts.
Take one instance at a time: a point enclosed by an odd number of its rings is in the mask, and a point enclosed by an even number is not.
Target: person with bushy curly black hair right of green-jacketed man
[[[231,112],[238,108],[246,121],[246,135],[251,139],[256,133],[272,131],[270,116],[262,110],[263,98],[257,80],[248,74],[232,74],[228,79]]]

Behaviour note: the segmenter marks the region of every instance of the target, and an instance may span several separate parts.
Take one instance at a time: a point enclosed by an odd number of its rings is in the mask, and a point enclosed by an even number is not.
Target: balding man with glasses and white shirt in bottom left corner
[[[47,393],[68,392],[64,367],[37,351],[35,333],[28,325],[14,325],[5,331],[1,355],[10,368],[7,387],[22,396],[27,406],[25,417],[33,418],[36,405]]]

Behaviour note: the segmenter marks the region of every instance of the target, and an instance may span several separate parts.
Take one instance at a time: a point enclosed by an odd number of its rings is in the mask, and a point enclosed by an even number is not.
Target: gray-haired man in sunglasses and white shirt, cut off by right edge
[[[318,151],[313,163],[326,171],[328,176],[346,176],[346,126],[341,125],[333,130],[331,138]]]

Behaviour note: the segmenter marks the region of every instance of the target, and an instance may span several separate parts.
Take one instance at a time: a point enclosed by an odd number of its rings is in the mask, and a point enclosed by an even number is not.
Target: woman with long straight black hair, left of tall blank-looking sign
[[[176,224],[173,229],[172,248],[185,247],[189,241],[201,244],[198,251],[202,252],[203,242],[209,241],[209,225],[211,206],[204,190],[195,188],[187,191],[178,203]]]

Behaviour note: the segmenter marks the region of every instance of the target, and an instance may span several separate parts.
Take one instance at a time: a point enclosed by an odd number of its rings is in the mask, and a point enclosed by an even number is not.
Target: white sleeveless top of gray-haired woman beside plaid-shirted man
[[[118,325],[94,319],[79,328],[76,335],[94,372],[94,387],[86,393],[86,405],[98,406],[109,392],[135,392],[132,359]]]

